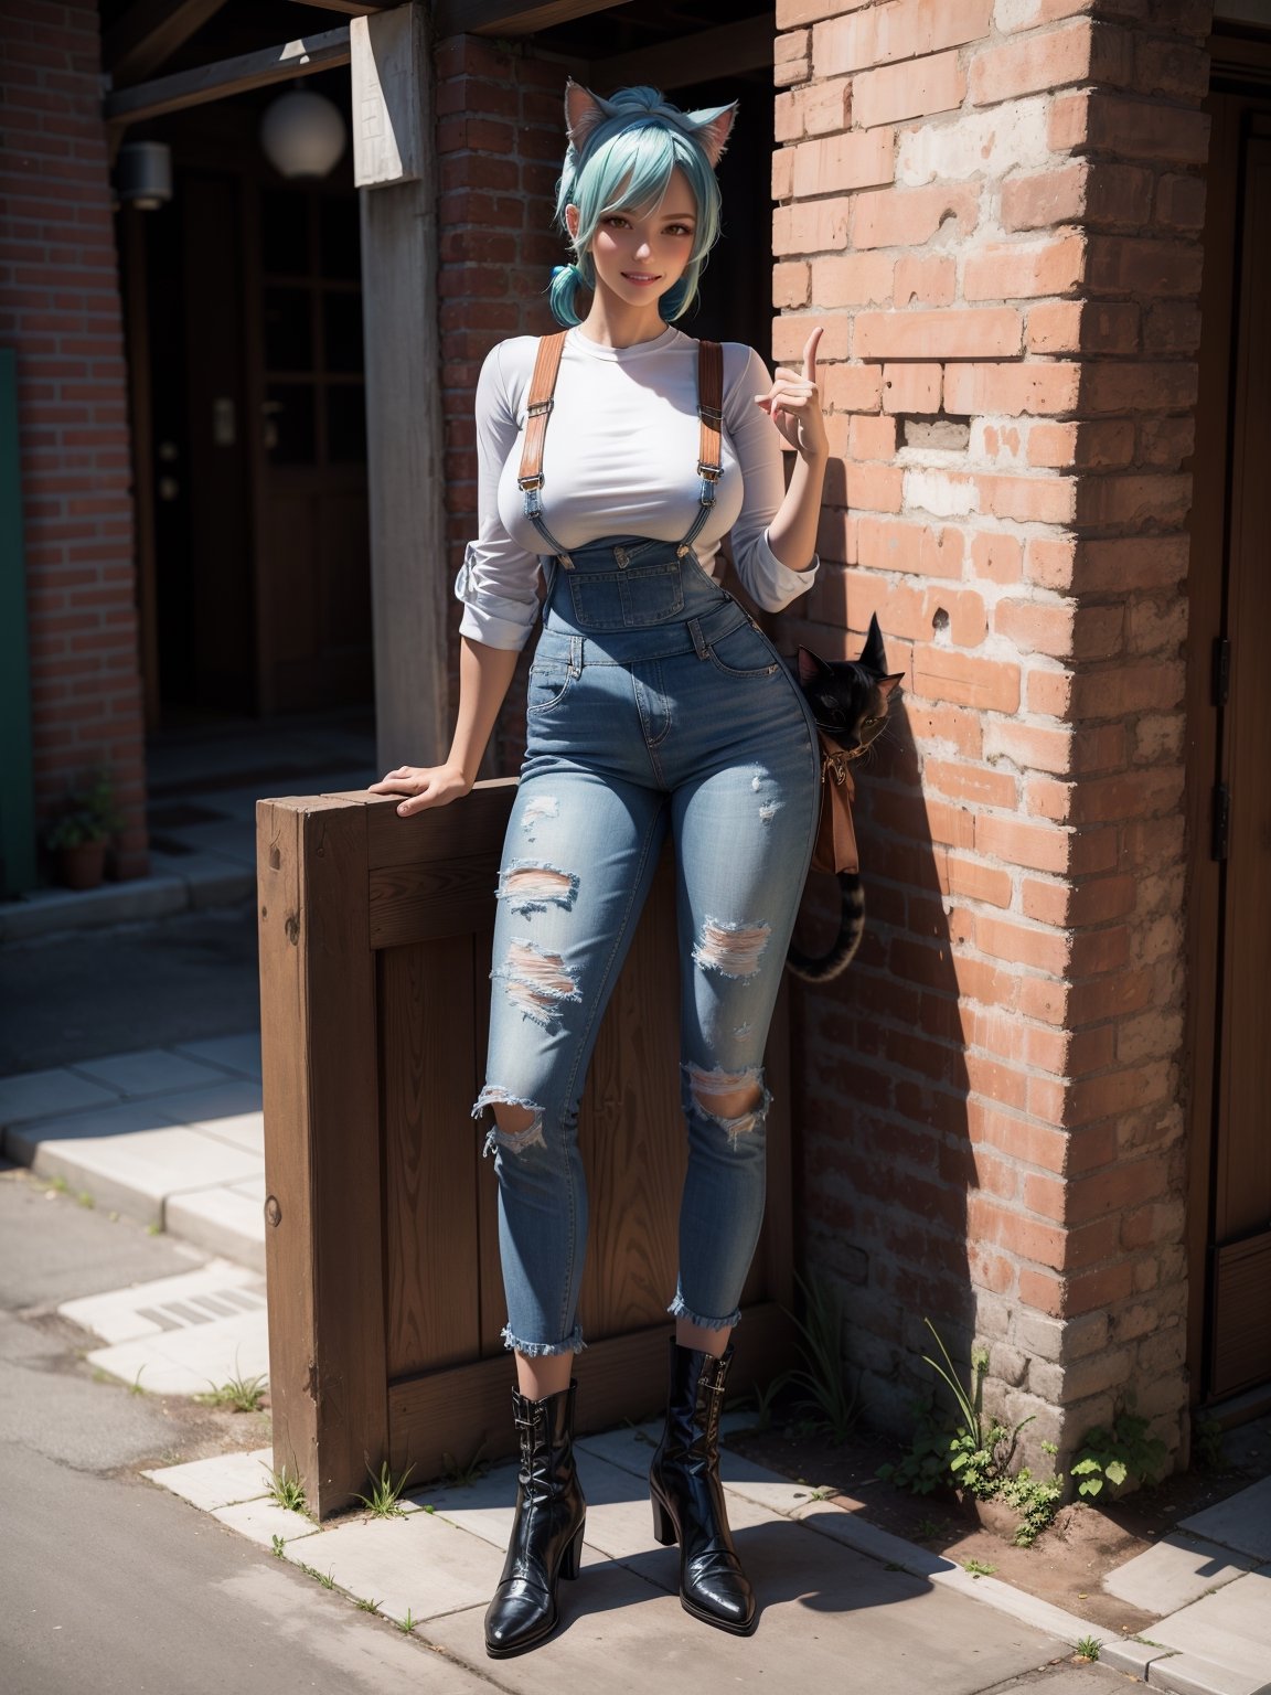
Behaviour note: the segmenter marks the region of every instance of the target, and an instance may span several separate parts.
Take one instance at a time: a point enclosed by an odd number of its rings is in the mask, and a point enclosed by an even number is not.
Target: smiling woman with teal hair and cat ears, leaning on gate
[[[680,112],[652,88],[600,100],[568,85],[556,210],[574,258],[554,275],[551,305],[571,327],[532,407],[536,356],[551,339],[513,337],[481,368],[480,529],[456,581],[454,742],[444,764],[402,766],[373,785],[410,797],[403,817],[468,793],[539,614],[542,570],[544,629],[498,883],[486,1085],[473,1109],[495,1120],[486,1153],[522,1446],[512,1542],[486,1614],[493,1656],[542,1641],[558,1578],[578,1575],[571,1366],[583,1348],[586,1190],[574,1124],[668,829],[690,1158],[666,1431],[649,1476],[654,1529],[680,1542],[688,1612],[754,1629],[717,1427],[763,1219],[763,1049],[812,853],[819,766],[793,678],[710,566],[730,531],[737,573],[763,607],[780,610],[812,585],[827,441],[820,331],[803,370],[774,381],[751,347],[724,344],[717,412],[698,342],[671,322],[693,303],[719,234],[713,168],[734,117],[735,105]],[[581,322],[580,286],[591,297]],[[781,437],[796,451],[788,490]]]

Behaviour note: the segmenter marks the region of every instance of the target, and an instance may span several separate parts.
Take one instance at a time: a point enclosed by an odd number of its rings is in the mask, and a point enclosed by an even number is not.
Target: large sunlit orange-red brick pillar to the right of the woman
[[[776,356],[837,456],[783,646],[903,700],[869,929],[798,995],[802,1209],[885,1417],[922,1320],[1059,1464],[1130,1385],[1186,1448],[1185,522],[1210,7],[778,0]],[[829,924],[822,892],[807,922]]]

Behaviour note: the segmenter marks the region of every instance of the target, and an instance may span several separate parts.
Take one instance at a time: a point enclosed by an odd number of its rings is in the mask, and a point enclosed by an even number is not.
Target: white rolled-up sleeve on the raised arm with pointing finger
[[[754,403],[771,386],[768,368],[754,347],[739,383],[734,383],[725,405],[724,425],[742,471],[742,508],[732,525],[732,563],[747,595],[764,612],[780,612],[798,595],[805,595],[817,580],[820,559],[813,553],[810,564],[791,571],[773,553],[768,542],[768,525],[781,508],[786,493],[781,466],[781,436]]]

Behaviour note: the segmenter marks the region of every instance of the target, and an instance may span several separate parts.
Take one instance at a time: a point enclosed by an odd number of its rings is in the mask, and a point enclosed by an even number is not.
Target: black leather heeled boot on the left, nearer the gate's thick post
[[[520,1432],[517,1517],[503,1576],[485,1614],[485,1648],[495,1659],[534,1648],[556,1629],[556,1580],[576,1578],[586,1502],[574,1470],[574,1390],[527,1400],[512,1392]]]

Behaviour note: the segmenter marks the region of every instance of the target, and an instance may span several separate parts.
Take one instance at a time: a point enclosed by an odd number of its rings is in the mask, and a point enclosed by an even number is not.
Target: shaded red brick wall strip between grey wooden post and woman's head
[[[476,36],[439,42],[437,203],[441,358],[446,414],[449,580],[476,531],[473,392],[481,359],[507,336],[558,329],[546,298],[564,261],[551,227],[564,156],[564,71],[519,44]],[[458,600],[451,600],[451,717],[459,703]],[[491,742],[491,775],[515,775],[525,746],[524,671]]]

